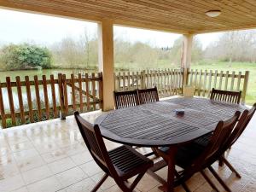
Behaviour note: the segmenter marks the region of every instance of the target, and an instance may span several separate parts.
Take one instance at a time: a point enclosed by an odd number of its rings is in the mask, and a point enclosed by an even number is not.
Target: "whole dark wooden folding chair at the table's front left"
[[[79,115],[79,112],[75,112],[74,116],[90,154],[97,165],[105,172],[105,175],[91,191],[99,189],[109,176],[113,177],[122,191],[131,192],[137,186],[137,183],[141,180],[145,172],[147,172],[148,168],[153,166],[153,161],[139,154],[135,149],[125,145],[107,151],[98,125],[91,125]],[[128,185],[127,180],[136,175],[137,177],[133,183]]]

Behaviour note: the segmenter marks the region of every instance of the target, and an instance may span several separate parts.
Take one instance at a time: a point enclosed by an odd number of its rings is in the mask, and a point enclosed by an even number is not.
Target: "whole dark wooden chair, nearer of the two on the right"
[[[212,172],[211,165],[213,162],[218,160],[219,151],[224,147],[225,143],[227,143],[227,138],[230,137],[239,116],[240,112],[236,112],[231,119],[219,121],[206,148],[198,148],[193,143],[188,144],[188,146],[178,148],[175,162],[177,166],[183,168],[183,170],[181,172],[175,172],[176,179],[174,186],[181,184],[186,191],[190,191],[185,182],[196,172],[201,172],[203,177],[205,177],[207,182],[212,186],[212,189],[219,191],[215,184],[212,183],[211,179],[207,177],[204,170],[208,168]],[[164,160],[168,161],[169,157],[166,154],[166,148],[157,149],[157,152]],[[220,177],[217,179],[220,183],[224,184],[224,181]],[[225,184],[224,189],[226,191],[230,191],[229,187]]]

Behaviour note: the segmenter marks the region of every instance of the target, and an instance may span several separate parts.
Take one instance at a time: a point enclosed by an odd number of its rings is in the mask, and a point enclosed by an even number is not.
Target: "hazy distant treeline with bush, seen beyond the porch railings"
[[[256,31],[224,32],[218,41],[202,49],[201,42],[194,38],[192,62],[256,61]],[[130,43],[125,39],[114,39],[114,62],[119,69],[155,68],[162,64],[177,67],[180,64],[182,38],[172,46],[153,47],[149,44]],[[96,35],[86,30],[79,39],[62,38],[51,46],[36,44],[8,44],[0,49],[0,69],[19,70],[30,68],[86,68],[94,69],[98,63]]]

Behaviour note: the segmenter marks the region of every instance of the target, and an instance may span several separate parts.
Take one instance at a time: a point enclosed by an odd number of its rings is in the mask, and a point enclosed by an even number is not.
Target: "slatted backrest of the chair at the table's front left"
[[[103,141],[99,126],[91,125],[90,122],[83,119],[77,111],[74,113],[74,116],[79,125],[79,131],[84,139],[84,143],[93,159],[104,172],[115,174],[115,169],[109,158],[108,150]]]

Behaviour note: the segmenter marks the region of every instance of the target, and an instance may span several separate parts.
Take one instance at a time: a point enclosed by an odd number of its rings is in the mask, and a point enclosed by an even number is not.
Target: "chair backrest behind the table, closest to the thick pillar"
[[[137,90],[128,90],[122,92],[113,91],[113,99],[116,109],[130,108],[139,104]]]

